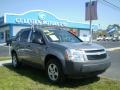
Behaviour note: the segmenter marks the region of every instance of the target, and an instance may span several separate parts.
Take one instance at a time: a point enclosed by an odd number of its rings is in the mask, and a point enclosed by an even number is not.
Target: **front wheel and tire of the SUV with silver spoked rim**
[[[46,66],[46,74],[48,80],[52,83],[62,83],[64,81],[64,74],[62,66],[57,59],[50,59]]]

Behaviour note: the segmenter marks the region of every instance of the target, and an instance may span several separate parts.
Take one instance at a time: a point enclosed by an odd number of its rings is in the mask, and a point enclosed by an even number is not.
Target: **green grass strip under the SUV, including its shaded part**
[[[1,90],[120,90],[120,82],[106,78],[68,79],[62,84],[52,84],[44,71],[29,66],[14,69],[11,65],[0,67]]]

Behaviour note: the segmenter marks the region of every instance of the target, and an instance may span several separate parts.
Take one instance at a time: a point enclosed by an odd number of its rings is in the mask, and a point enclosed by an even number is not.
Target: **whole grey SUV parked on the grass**
[[[104,47],[82,42],[61,29],[22,29],[12,43],[11,55],[13,67],[21,63],[40,67],[51,82],[66,76],[96,76],[111,64]]]

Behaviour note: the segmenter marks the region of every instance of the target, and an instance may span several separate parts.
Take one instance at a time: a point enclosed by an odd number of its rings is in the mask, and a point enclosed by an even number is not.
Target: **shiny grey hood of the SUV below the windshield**
[[[98,45],[96,43],[86,43],[86,42],[81,42],[81,43],[69,43],[69,42],[64,42],[64,43],[58,43],[59,45],[62,45],[66,48],[69,49],[80,49],[80,50],[99,50],[99,49],[104,49],[103,46]]]

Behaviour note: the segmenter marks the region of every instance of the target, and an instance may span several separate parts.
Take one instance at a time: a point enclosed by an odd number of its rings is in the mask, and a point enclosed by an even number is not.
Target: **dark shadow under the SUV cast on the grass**
[[[74,88],[78,86],[85,86],[91,83],[95,83],[100,80],[100,77],[92,77],[92,78],[82,78],[82,79],[66,79],[65,82],[59,84],[50,83],[47,79],[45,71],[36,69],[27,65],[22,65],[20,68],[15,69],[11,64],[4,64],[6,68],[11,71],[18,73],[19,75],[29,77],[30,79],[45,84],[45,85],[54,85],[60,88]]]

